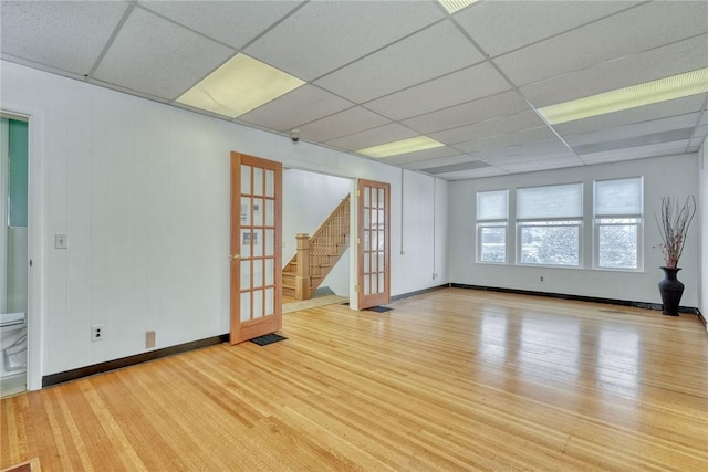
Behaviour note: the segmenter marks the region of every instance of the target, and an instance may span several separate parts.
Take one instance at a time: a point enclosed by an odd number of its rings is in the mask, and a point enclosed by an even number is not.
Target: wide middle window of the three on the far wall
[[[580,266],[582,224],[582,183],[517,190],[521,264]]]

